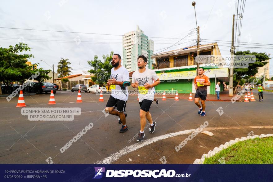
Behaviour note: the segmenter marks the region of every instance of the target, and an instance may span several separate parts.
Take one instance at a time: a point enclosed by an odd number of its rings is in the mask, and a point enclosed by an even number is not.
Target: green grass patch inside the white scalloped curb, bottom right
[[[237,142],[213,157],[205,158],[204,164],[220,164],[221,158],[226,164],[273,164],[273,137]]]

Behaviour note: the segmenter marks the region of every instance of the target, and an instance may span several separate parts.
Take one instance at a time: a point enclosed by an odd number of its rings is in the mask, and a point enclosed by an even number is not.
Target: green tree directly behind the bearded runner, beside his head
[[[112,64],[111,60],[114,51],[111,51],[110,55],[102,55],[103,62],[98,59],[98,56],[94,56],[94,60],[87,61],[87,63],[93,68],[88,70],[89,73],[94,74],[91,79],[93,82],[105,83],[107,82],[108,73],[111,73]]]

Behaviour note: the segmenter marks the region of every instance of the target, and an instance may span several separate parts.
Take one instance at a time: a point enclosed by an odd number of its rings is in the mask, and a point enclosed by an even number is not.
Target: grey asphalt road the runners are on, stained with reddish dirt
[[[21,114],[22,108],[15,107],[18,97],[9,102],[5,98],[0,98],[0,163],[46,163],[48,157],[51,157],[54,163],[96,163],[126,146],[137,143],[136,139],[129,141],[140,130],[140,107],[136,96],[129,96],[126,106],[129,131],[121,134],[118,117],[112,115],[105,117],[102,113],[109,95],[104,95],[104,102],[97,102],[99,95],[82,92],[83,103],[76,103],[77,95],[76,92],[57,91],[55,105],[47,104],[50,94],[25,96],[27,107],[80,107],[82,113],[75,116],[73,121],[29,121],[27,116]],[[159,163],[160,156],[164,155],[171,156],[168,159],[169,163],[192,163],[195,158],[218,147],[221,142],[246,136],[250,131],[254,131],[255,135],[273,133],[271,130],[273,93],[265,92],[263,102],[257,101],[257,91],[254,91],[254,95],[256,101],[249,103],[208,101],[205,117],[197,114],[198,108],[194,102],[172,99],[161,101],[162,95],[157,95],[159,104],[153,102],[150,108],[152,118],[157,122],[156,130],[153,134],[145,131],[145,140],[195,129],[205,121],[209,123],[208,130],[215,135],[209,138],[207,135],[199,134],[186,145],[187,148],[179,151],[181,153],[177,153],[174,147],[188,134],[159,140],[127,153],[114,162]],[[222,107],[224,112],[221,116],[217,112],[219,107]],[[94,126],[64,153],[60,153],[60,148],[90,122]],[[252,129],[249,126],[257,127]]]

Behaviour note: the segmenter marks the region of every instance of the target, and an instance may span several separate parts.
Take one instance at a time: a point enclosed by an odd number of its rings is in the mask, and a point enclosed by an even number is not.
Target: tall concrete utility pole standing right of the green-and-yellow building
[[[234,57],[234,17],[233,15],[233,22],[232,22],[232,35],[231,35],[231,49],[230,49],[230,73],[229,73],[229,92],[228,96],[233,97],[233,57]]]

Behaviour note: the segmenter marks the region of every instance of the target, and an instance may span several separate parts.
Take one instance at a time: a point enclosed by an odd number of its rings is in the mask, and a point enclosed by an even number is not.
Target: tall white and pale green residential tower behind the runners
[[[153,60],[151,58],[154,51],[154,41],[149,40],[149,37],[139,29],[137,25],[136,31],[125,33],[122,36],[122,48],[123,48],[123,66],[129,71],[136,71],[137,56],[145,55],[148,59],[147,67],[152,69]]]

